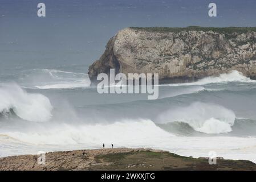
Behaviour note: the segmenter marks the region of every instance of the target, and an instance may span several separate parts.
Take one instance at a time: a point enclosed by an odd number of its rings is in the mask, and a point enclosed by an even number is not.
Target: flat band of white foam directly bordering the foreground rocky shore
[[[15,137],[19,136],[16,134]],[[132,136],[132,133],[131,135]],[[209,151],[216,151],[217,156],[222,156],[224,159],[234,160],[251,160],[256,163],[256,138],[255,137],[168,137],[164,135],[157,135],[155,138],[148,138],[140,140],[133,137],[125,139],[124,137],[117,137],[114,140],[109,138],[100,139],[101,143],[84,143],[84,144],[65,144],[62,143],[54,145],[46,144],[29,144],[21,143],[18,140],[10,138],[8,135],[0,134],[0,143],[3,146],[0,150],[0,157],[10,155],[23,154],[37,154],[38,151],[67,151],[67,150],[83,150],[100,148],[102,143],[105,147],[131,147],[131,148],[155,148],[159,150],[166,150],[172,153],[193,156],[198,158],[200,156],[209,157]],[[92,138],[92,137],[91,137]],[[49,142],[48,142],[49,143]]]

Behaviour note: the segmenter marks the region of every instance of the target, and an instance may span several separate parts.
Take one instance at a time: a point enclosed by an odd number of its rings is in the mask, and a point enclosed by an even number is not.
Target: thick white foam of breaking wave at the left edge
[[[27,121],[44,122],[51,119],[52,106],[42,94],[27,93],[17,84],[0,86],[0,113],[13,109],[18,117]]]

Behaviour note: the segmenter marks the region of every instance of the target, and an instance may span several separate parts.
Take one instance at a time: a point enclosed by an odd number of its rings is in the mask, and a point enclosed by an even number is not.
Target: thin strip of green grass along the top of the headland
[[[178,27],[130,27],[136,30],[144,30],[151,32],[182,32],[182,31],[214,31],[223,34],[232,34],[234,32],[246,33],[249,31],[256,32],[256,27],[199,27],[199,26],[189,26],[184,28]]]

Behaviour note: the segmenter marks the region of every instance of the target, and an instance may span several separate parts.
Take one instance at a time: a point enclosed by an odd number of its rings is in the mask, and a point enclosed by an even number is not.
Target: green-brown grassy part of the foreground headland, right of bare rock
[[[210,165],[207,158],[196,159],[150,150],[96,155],[95,160],[108,165],[94,165],[90,170],[255,170],[256,166],[247,160],[224,159],[218,159],[217,165]]]

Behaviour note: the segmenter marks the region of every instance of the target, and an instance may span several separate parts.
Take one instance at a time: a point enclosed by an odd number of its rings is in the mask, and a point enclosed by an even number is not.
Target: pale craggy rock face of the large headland
[[[160,82],[186,81],[231,70],[256,78],[256,28],[125,28],[89,68],[99,73],[159,73]]]

